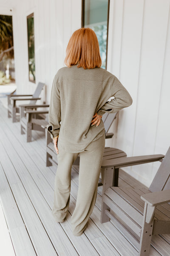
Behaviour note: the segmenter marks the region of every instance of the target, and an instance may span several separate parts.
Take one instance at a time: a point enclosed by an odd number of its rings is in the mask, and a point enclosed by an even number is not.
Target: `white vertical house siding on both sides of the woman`
[[[68,40],[81,27],[81,2],[18,0],[12,12],[18,93],[35,89],[28,81],[26,16],[34,12],[36,82],[47,85],[42,101],[49,102]],[[110,0],[107,69],[130,92],[133,105],[120,111],[106,145],[121,148],[127,156],[165,154],[170,145],[170,0]],[[125,171],[149,186],[158,166]]]

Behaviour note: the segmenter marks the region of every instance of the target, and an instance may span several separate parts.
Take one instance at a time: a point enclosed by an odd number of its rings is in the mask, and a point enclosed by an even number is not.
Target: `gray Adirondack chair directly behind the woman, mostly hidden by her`
[[[105,125],[105,137],[106,137],[106,139],[109,139],[109,138],[113,137],[113,133],[108,133],[108,130],[111,127],[113,121],[116,119],[117,114],[118,114],[118,112],[109,113],[109,114],[105,113],[102,116],[102,120],[103,120],[104,125]],[[46,125],[48,125],[48,122],[46,123]],[[46,128],[46,125],[42,125],[42,127]],[[46,166],[51,166],[53,163],[57,164],[57,154],[56,154],[56,151],[54,149],[54,145],[51,141],[51,136],[50,136],[49,132],[47,131],[47,129],[45,129],[45,137],[46,137]],[[110,154],[110,156],[112,156],[112,157],[126,156],[126,153],[123,152],[122,150],[119,150],[119,149],[116,149],[116,148],[112,148],[112,149],[113,150],[110,151],[110,153],[108,152],[108,154]],[[114,150],[117,150],[117,151],[114,151]],[[105,153],[105,154],[107,155],[107,153]],[[120,155],[118,155],[118,154],[120,154]],[[79,156],[75,160],[74,166],[79,166]]]

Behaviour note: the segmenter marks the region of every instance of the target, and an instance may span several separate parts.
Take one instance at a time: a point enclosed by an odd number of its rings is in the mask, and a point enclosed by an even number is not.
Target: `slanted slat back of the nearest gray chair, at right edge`
[[[151,192],[165,189],[170,189],[170,147],[149,187]]]

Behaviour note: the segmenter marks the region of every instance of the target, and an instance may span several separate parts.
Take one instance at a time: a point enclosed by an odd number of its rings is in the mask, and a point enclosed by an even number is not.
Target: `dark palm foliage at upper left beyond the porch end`
[[[12,16],[0,15],[0,52],[13,46]],[[9,58],[14,58],[14,51],[6,53]]]

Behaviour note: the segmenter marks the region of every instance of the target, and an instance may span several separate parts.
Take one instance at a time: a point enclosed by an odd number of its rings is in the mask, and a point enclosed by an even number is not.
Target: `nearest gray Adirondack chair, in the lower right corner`
[[[149,189],[118,187],[119,168],[154,161],[162,163]],[[170,234],[170,148],[165,156],[103,160],[102,172],[101,223],[111,219],[126,238],[139,248],[138,255],[148,256],[152,235]]]

